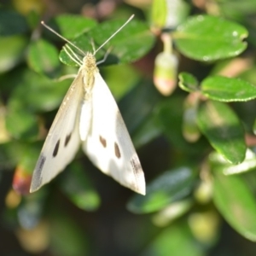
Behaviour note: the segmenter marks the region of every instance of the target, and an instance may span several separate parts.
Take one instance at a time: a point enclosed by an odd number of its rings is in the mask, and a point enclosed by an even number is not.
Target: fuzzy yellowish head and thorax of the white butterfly
[[[95,79],[95,73],[99,72],[98,68],[96,67],[96,58],[93,54],[88,52],[83,59],[83,65],[80,67],[81,72],[84,74],[84,91],[85,95],[90,94],[94,79]]]

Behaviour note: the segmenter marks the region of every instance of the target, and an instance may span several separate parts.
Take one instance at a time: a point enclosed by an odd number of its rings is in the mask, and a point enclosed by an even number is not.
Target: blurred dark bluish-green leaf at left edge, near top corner
[[[0,37],[24,34],[27,31],[28,26],[23,16],[14,11],[0,10]],[[3,46],[1,46],[2,48]]]

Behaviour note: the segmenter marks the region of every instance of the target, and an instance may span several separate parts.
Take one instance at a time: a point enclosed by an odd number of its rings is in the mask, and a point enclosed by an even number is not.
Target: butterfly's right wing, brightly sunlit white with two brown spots
[[[98,72],[95,73],[91,102],[91,126],[83,143],[85,154],[102,172],[145,195],[144,173],[131,137],[108,85]],[[84,123],[82,119],[81,124]]]

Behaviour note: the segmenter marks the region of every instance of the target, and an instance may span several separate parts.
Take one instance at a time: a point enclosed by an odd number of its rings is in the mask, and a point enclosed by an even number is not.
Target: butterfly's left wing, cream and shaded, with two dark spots
[[[79,113],[83,100],[82,74],[67,91],[32,175],[30,191],[36,191],[61,172],[73,160],[80,144]]]

